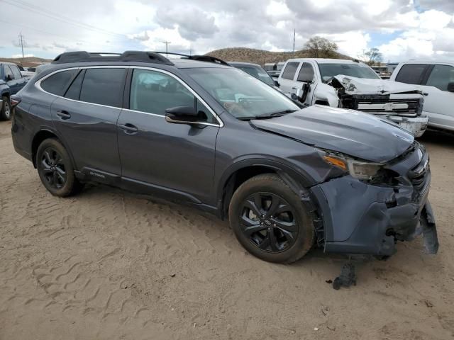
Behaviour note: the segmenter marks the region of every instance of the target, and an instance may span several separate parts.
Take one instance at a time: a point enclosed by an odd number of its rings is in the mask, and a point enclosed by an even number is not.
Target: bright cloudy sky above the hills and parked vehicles
[[[300,50],[314,35],[384,62],[454,61],[454,0],[0,0],[0,57],[70,50]],[[7,15],[4,15],[7,14]]]

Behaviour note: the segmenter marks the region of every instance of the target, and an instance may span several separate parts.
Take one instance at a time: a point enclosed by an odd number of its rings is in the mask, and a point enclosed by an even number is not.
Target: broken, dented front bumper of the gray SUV
[[[323,220],[325,251],[390,256],[397,241],[423,234],[426,252],[436,254],[427,154],[421,159],[421,152],[413,152],[389,169],[400,175],[393,186],[343,176],[311,188]]]

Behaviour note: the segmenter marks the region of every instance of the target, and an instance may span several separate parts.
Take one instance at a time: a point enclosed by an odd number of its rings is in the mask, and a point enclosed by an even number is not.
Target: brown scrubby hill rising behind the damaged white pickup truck
[[[295,52],[270,52],[245,47],[222,48],[221,50],[208,52],[206,55],[222,59],[226,62],[253,62],[254,64],[262,66],[265,62],[285,62],[291,58],[312,57],[312,55],[310,55],[310,53],[306,50],[299,50]],[[341,53],[336,53],[334,58],[348,60],[352,59],[347,55],[341,55]]]

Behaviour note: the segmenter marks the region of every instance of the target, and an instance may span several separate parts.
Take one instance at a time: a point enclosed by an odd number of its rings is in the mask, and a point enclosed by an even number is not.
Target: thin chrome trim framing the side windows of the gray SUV
[[[45,79],[48,79],[53,74],[56,74],[58,72],[63,72],[63,71],[70,71],[72,69],[145,69],[145,70],[149,70],[149,71],[155,71],[155,72],[160,72],[160,73],[163,73],[163,74],[167,74],[168,76],[173,77],[174,79],[179,81],[179,83],[181,83],[184,87],[186,87],[186,89],[188,89],[188,91],[191,92],[194,97],[196,97],[199,101],[201,101],[201,103],[204,104],[204,106],[206,106],[206,108],[209,109],[210,113],[212,115],[214,115],[214,118],[216,118],[216,121],[218,122],[218,124],[215,124],[215,123],[204,123],[204,122],[200,122],[200,123],[197,123],[197,124],[209,125],[209,126],[217,126],[218,128],[223,128],[223,126],[224,126],[224,123],[221,120],[221,118],[219,118],[219,116],[216,115],[214,110],[206,103],[206,101],[204,101],[203,98],[201,98],[201,96],[199,96],[199,94],[196,93],[196,91],[194,91],[188,84],[186,84],[184,81],[182,81],[182,79],[179,79],[179,77],[175,76],[175,74],[172,74],[172,72],[168,72],[165,69],[156,69],[155,67],[131,66],[131,65],[125,65],[125,66],[120,66],[120,65],[111,65],[111,66],[109,66],[109,65],[101,65],[101,66],[68,67],[66,69],[57,69],[54,72],[50,72],[50,74],[47,74],[47,75],[45,75],[45,77],[43,77],[43,78],[39,79],[38,81],[36,81],[34,85],[35,85],[36,89],[38,89],[40,91],[43,91],[45,94],[50,94],[50,96],[54,96],[54,97],[57,97],[57,98],[62,98],[62,99],[65,99],[67,101],[75,101],[77,103],[85,103],[85,104],[91,104],[91,105],[96,105],[96,106],[103,106],[104,108],[117,108],[119,110],[132,111],[132,112],[137,112],[137,113],[143,113],[145,115],[154,115],[154,116],[157,116],[157,117],[165,118],[165,115],[160,115],[160,114],[157,114],[157,113],[149,113],[149,112],[144,112],[144,111],[131,110],[129,108],[118,108],[117,106],[108,106],[108,105],[103,105],[103,104],[90,103],[88,101],[76,101],[74,99],[65,98],[63,96],[57,96],[56,94],[51,94],[50,92],[45,91],[41,87],[41,82],[45,81]]]

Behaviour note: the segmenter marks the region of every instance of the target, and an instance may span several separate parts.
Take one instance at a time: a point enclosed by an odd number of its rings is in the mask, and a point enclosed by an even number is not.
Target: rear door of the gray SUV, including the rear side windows
[[[72,152],[77,169],[98,181],[121,175],[116,122],[123,105],[126,69],[87,67],[49,77],[40,86],[55,94],[55,128]]]

